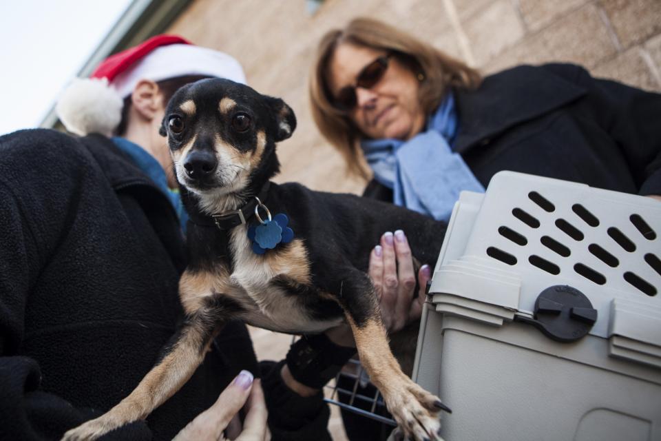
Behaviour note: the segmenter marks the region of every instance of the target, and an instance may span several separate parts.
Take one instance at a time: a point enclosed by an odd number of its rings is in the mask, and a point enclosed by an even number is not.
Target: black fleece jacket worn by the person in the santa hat
[[[101,136],[2,136],[0,201],[0,440],[59,439],[125,398],[174,334],[179,224]],[[240,369],[256,361],[235,323],[174,397],[108,438],[171,439]]]

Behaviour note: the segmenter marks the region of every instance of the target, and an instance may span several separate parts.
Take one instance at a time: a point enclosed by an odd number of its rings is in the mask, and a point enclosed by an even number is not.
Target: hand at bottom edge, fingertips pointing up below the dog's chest
[[[247,403],[246,403],[247,401]],[[234,417],[242,407],[246,407],[243,428]],[[266,439],[266,404],[260,380],[253,382],[249,371],[241,371],[234,381],[225,388],[213,406],[200,413],[180,431],[176,441],[217,441],[224,440],[224,430],[231,426],[238,441],[264,441]]]

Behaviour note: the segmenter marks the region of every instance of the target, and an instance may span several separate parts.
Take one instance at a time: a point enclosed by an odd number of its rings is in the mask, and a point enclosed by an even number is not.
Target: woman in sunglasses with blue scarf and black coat
[[[518,66],[482,79],[389,25],[355,19],[320,41],[310,94],[319,131],[350,172],[371,177],[364,196],[439,220],[459,192],[483,191],[501,170],[661,194],[661,95],[593,79],[576,65]],[[382,238],[370,255],[370,276],[410,279],[410,269],[401,271],[410,265],[395,265],[405,254],[390,245],[386,256],[386,247]],[[403,287],[380,285],[385,322],[419,318],[412,288]],[[384,297],[411,307],[384,308]],[[351,439],[383,439],[365,422],[345,424]]]

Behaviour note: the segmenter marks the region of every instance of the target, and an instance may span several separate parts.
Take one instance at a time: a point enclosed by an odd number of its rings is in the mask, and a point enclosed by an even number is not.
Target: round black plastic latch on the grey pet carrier
[[[597,310],[578,289],[555,285],[537,297],[534,319],[516,316],[516,320],[537,327],[553,340],[573,342],[589,333],[597,321]]]

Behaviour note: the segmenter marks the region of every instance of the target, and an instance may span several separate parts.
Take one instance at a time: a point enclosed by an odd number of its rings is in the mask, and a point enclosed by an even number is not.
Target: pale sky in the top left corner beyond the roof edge
[[[37,127],[130,0],[3,0],[0,135]]]

